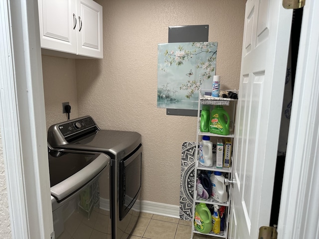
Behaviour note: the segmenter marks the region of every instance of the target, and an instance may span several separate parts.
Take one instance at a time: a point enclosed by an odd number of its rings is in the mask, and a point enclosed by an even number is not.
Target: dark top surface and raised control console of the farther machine
[[[122,159],[142,143],[138,132],[100,129],[90,116],[51,125],[48,144],[53,148],[104,152]]]

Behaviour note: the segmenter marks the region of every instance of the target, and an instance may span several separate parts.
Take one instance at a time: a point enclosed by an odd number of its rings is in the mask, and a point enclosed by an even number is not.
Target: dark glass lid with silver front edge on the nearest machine
[[[99,153],[49,154],[51,195],[62,201],[94,179],[110,165],[110,158]]]

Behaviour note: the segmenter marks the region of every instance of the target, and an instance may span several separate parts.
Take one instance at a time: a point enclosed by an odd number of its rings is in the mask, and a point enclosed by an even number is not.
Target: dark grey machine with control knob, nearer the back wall
[[[54,149],[100,152],[111,158],[111,235],[112,239],[126,239],[134,229],[140,213],[141,134],[100,129],[92,117],[85,116],[51,125],[48,129],[48,143]],[[103,187],[101,183],[100,187]],[[102,196],[101,200],[105,201]]]

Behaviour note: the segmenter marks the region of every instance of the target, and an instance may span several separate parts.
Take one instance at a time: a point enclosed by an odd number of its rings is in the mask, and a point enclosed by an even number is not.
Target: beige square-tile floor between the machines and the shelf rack
[[[128,239],[190,239],[191,222],[177,218],[141,213],[139,221]],[[193,239],[213,239],[194,235]]]

